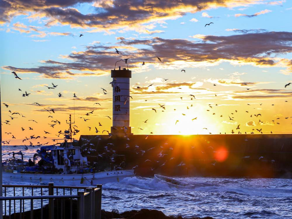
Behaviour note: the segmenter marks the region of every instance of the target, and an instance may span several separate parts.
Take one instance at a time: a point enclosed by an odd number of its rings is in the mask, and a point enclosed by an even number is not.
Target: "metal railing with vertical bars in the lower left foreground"
[[[96,187],[48,185],[2,185],[0,218],[100,219],[102,185]],[[61,193],[61,194],[59,194]],[[75,193],[75,194],[72,194]],[[12,196],[13,194],[13,196]],[[73,206],[74,203],[74,206]],[[68,211],[69,208],[69,211]],[[76,209],[77,208],[77,209]],[[67,209],[67,211],[66,211]],[[39,210],[38,212],[36,212]],[[3,215],[4,213],[4,215]]]

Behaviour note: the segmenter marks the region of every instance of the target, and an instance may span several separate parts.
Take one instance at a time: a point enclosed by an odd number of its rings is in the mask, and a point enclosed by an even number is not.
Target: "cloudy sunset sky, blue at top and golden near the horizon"
[[[69,114],[76,139],[110,131],[110,71],[125,58],[133,134],[292,133],[291,12],[285,0],[0,0],[2,140],[51,144]]]

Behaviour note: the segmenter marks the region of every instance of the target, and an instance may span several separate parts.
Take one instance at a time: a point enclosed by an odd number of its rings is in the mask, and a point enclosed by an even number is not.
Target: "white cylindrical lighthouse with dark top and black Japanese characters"
[[[130,78],[132,77],[132,71],[128,69],[128,65],[127,65],[127,69],[126,68],[121,69],[120,66],[119,66],[119,70],[116,70],[115,68],[114,70],[111,71],[111,77],[112,77],[111,133],[113,135],[131,134]]]

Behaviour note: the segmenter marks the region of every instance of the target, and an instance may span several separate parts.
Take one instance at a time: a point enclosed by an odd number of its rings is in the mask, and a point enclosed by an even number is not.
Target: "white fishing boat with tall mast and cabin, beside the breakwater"
[[[66,121],[67,122],[67,121]],[[54,183],[55,185],[96,185],[119,182],[123,178],[134,176],[134,170],[124,170],[125,156],[112,154],[108,158],[100,156],[95,162],[88,162],[82,156],[78,140],[72,138],[71,115],[69,129],[64,133],[62,143],[43,146],[34,154],[33,161],[13,158],[2,163],[3,180],[28,183]],[[75,130],[76,131],[76,130]],[[73,135],[74,135],[73,134]],[[53,141],[61,140],[54,139]],[[94,150],[94,149],[91,149]],[[23,162],[20,162],[20,161]],[[37,163],[36,161],[39,160]],[[109,162],[105,162],[109,160]],[[16,162],[17,161],[17,162]]]

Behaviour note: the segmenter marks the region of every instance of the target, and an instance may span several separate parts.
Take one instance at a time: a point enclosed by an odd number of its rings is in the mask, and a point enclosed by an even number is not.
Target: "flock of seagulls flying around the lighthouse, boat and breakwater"
[[[211,23],[213,23],[213,22],[211,22]],[[209,24],[206,24],[205,25],[205,27],[207,26],[207,25],[210,25],[211,23],[209,23]],[[83,36],[83,34],[80,34],[80,36],[79,37],[81,37],[81,36]],[[115,52],[117,53],[117,54],[119,54],[119,52],[120,51],[118,51],[117,50],[117,48],[115,48]],[[120,54],[119,54],[120,55]],[[158,56],[156,57],[157,58],[157,60],[159,60],[160,62],[162,62],[161,61],[161,58],[159,58]],[[127,62],[128,61],[128,59],[129,58],[126,58],[124,61],[125,62]],[[145,62],[143,62],[142,63],[142,66],[143,65],[145,65],[146,63]],[[185,69],[182,69],[181,70],[181,72],[186,72],[185,71]],[[18,77],[18,75],[17,75],[17,73],[16,72],[12,72],[13,74],[14,74],[14,77],[16,78],[16,79],[19,79],[19,80],[22,80],[20,77]],[[169,80],[169,79],[164,79],[164,81],[167,81],[167,80]],[[113,81],[114,81],[114,79],[113,79]],[[113,83],[113,81],[110,83],[110,84],[112,84]],[[291,85],[292,83],[288,83],[288,84],[286,84],[285,85],[285,88],[287,87],[287,86],[289,86],[289,85]],[[150,86],[152,86],[153,84],[150,84],[149,86],[147,86],[147,88],[149,88]],[[216,86],[216,84],[213,84],[214,86]],[[48,89],[55,89],[55,88],[57,88],[58,87],[58,85],[55,85],[55,84],[53,84],[52,83],[52,86],[46,86],[46,85],[44,85],[45,87],[47,87]],[[139,86],[137,86],[137,88],[139,89],[140,87]],[[103,93],[106,95],[106,94],[108,94],[107,93],[107,91],[104,89],[104,88],[101,88],[102,89],[102,91],[103,91]],[[178,89],[181,89],[181,88],[178,88]],[[249,88],[247,88],[247,89],[249,89]],[[18,91],[22,91],[20,88],[18,89]],[[154,92],[154,91],[152,91],[152,92]],[[23,97],[28,97],[30,95],[30,93],[27,93],[27,91],[25,91],[23,94],[22,94],[22,96]],[[58,93],[57,94],[58,95],[58,97],[59,98],[62,98],[62,97],[64,97],[63,96],[63,94],[62,93]],[[216,94],[215,94],[215,96],[217,96]],[[129,97],[131,97],[131,96],[129,96]],[[74,95],[73,95],[73,98],[77,98],[77,96],[76,96],[76,93],[74,93]],[[132,98],[132,97],[131,97]],[[194,95],[192,95],[192,94],[190,94],[190,95],[188,95],[188,97],[187,98],[190,98],[190,100],[194,100],[194,99],[196,99],[195,98],[195,96]],[[181,100],[183,100],[183,97],[180,97],[180,99]],[[127,100],[126,100],[127,101]],[[125,101],[125,102],[126,102]],[[147,101],[147,100],[145,100],[145,101]],[[288,102],[288,101],[285,101],[285,102]],[[6,103],[3,103],[4,104],[4,106],[6,107],[6,108],[8,108],[9,107],[9,105],[8,104],[6,104]],[[34,102],[34,103],[32,103],[32,104],[36,104],[36,105],[39,105],[39,106],[41,106],[41,104],[39,104],[38,102]],[[100,103],[94,103],[93,105],[95,105],[95,104],[97,104],[97,105],[100,105]],[[250,104],[247,104],[247,105],[250,105]],[[262,103],[260,104],[260,105],[262,105]],[[272,105],[274,105],[274,104],[272,104]],[[101,105],[100,105],[101,106]],[[215,105],[211,105],[211,104],[209,104],[208,105],[208,109],[207,109],[207,111],[208,112],[210,112],[210,113],[212,113],[212,110],[213,110],[213,107],[215,108],[216,106],[218,106],[217,104],[215,104]],[[186,107],[186,109],[190,109],[190,107],[193,107],[193,104],[191,104],[190,106],[187,106]],[[166,105],[164,104],[164,105],[161,105],[161,104],[159,104],[159,108],[162,108],[162,112],[165,112],[165,110],[166,110]],[[254,108],[255,109],[255,108]],[[48,118],[50,118],[50,119],[52,119],[51,120],[51,122],[50,123],[48,123],[48,125],[50,126],[50,127],[52,127],[52,128],[54,128],[56,125],[60,125],[61,124],[61,122],[60,121],[58,121],[57,119],[54,119],[53,118],[53,116],[51,115],[51,113],[53,113],[53,114],[55,114],[55,110],[54,109],[46,109],[46,108],[44,108],[44,110],[46,110],[48,113],[50,113],[50,115],[48,116]],[[157,113],[157,109],[155,109],[155,108],[152,108],[152,110],[155,112],[155,113]],[[176,109],[173,109],[174,111],[176,110]],[[6,124],[6,125],[10,125],[10,123],[11,123],[11,121],[12,120],[14,120],[14,119],[17,119],[17,117],[13,117],[13,115],[19,115],[19,116],[21,116],[21,117],[25,117],[22,113],[20,113],[20,112],[11,112],[11,110],[8,110],[8,112],[10,112],[10,114],[11,115],[9,115],[9,119],[6,119],[5,121],[3,121],[3,123],[4,124]],[[94,112],[94,110],[93,111],[91,111],[91,112],[88,112],[88,113],[86,113],[85,115],[86,116],[89,116],[90,114],[93,114],[93,112]],[[231,112],[230,113],[230,115],[228,114],[227,116],[228,116],[228,119],[230,120],[230,121],[235,121],[235,115],[237,114],[237,110],[235,110],[234,112]],[[248,113],[248,114],[250,114],[250,117],[261,117],[262,115],[260,114],[260,113],[256,113],[256,114],[252,114],[252,113],[250,113],[249,111],[245,111],[246,113]],[[216,113],[215,112],[213,112],[212,113],[213,115],[215,115]],[[182,115],[183,116],[185,116],[186,115],[186,113],[182,113]],[[111,117],[109,117],[109,116],[105,116],[105,117],[108,117],[109,119],[111,119]],[[223,115],[220,115],[220,117],[223,117]],[[80,119],[83,119],[84,120],[84,122],[86,122],[86,121],[88,121],[88,120],[90,120],[90,119],[88,119],[88,118],[85,118],[85,117],[79,117]],[[289,117],[285,117],[285,119],[288,119]],[[292,117],[290,117],[290,118],[292,118]],[[197,117],[195,117],[195,118],[193,118],[192,119],[192,121],[194,121],[194,120],[196,120],[197,119]],[[280,118],[277,118],[277,119],[280,119]],[[142,121],[143,123],[147,123],[147,121],[148,121],[149,119],[146,119],[145,121]],[[35,121],[35,120],[33,120],[33,119],[29,119],[28,121],[32,121],[32,122],[35,122],[35,123],[37,123],[37,121]],[[175,125],[177,124],[177,123],[179,123],[180,121],[179,120],[176,120],[175,121]],[[280,124],[279,122],[276,122],[276,121],[274,121],[274,120],[272,120],[272,122],[273,123],[275,123],[275,124]],[[261,124],[261,123],[264,123],[263,121],[261,121],[260,119],[259,119],[259,121],[258,121],[258,123],[259,124]],[[2,124],[1,124],[2,125]],[[100,122],[99,122],[99,125],[98,126],[102,126],[102,124],[100,124]],[[75,128],[76,127],[76,128]],[[88,128],[89,128],[89,131],[91,131],[91,127],[90,126],[87,126]],[[73,129],[74,129],[74,131],[73,131],[73,135],[76,135],[78,132],[79,132],[79,130],[77,129],[78,127],[76,126],[76,125],[74,125],[73,126]],[[139,128],[140,130],[143,130],[142,128]],[[206,129],[206,130],[208,130],[208,128],[203,128],[203,129]],[[23,127],[21,127],[21,130],[22,131],[25,131],[25,128],[23,128]],[[28,130],[34,130],[32,127],[29,127],[28,128]],[[124,127],[124,130],[125,130],[125,133],[126,133],[126,130],[127,130],[127,127]],[[237,125],[237,127],[236,128],[234,128],[234,129],[232,129],[231,130],[231,132],[230,133],[235,133],[234,132],[234,130],[238,130],[238,133],[239,134],[241,134],[241,132],[239,131],[240,130],[240,124],[239,125]],[[257,131],[258,133],[263,133],[263,131],[262,131],[262,128],[261,129],[252,129],[252,131],[251,131],[251,134],[253,134],[254,133],[254,131]],[[98,130],[98,128],[97,127],[95,127],[95,133],[99,133],[99,132],[101,132],[101,131],[99,131]],[[111,133],[109,133],[109,131],[107,131],[107,130],[103,130],[102,131],[102,133],[104,133],[104,132],[106,132],[106,133],[108,133],[108,135],[109,135],[109,138],[111,138]],[[15,138],[15,136],[12,134],[12,133],[7,133],[7,132],[5,132],[7,135],[12,135],[12,138],[13,139],[16,139]],[[50,132],[48,132],[48,131],[45,131],[44,130],[44,133],[45,133],[45,135],[46,134],[51,134]],[[60,130],[59,132],[58,132],[58,135],[56,135],[56,136],[60,136],[60,134],[62,133],[62,131]],[[272,131],[270,132],[270,133],[272,133]],[[150,134],[153,134],[153,132],[150,132]],[[209,134],[212,134],[211,132],[209,132]],[[220,134],[221,134],[221,132],[220,132]],[[226,134],[226,132],[225,132],[225,134]],[[246,134],[246,132],[245,132],[245,134]],[[96,136],[97,138],[100,138],[100,136]],[[37,146],[37,147],[39,147],[39,146],[41,146],[41,145],[47,145],[47,144],[49,144],[49,142],[46,142],[46,143],[40,143],[40,142],[37,142],[37,144],[36,145],[34,145],[33,143],[32,143],[32,139],[34,139],[34,140],[36,140],[36,139],[38,139],[38,138],[41,138],[41,136],[35,136],[35,135],[30,135],[29,136],[29,138],[27,138],[27,137],[25,137],[23,140],[22,140],[22,142],[25,142],[25,141],[27,141],[27,142],[29,142],[29,146],[32,146],[32,147],[34,147],[34,146]],[[46,136],[43,136],[42,138],[47,138]],[[125,138],[127,139],[127,140],[129,140],[129,138],[128,138],[128,136],[125,134]],[[148,138],[148,135],[146,136],[146,139]],[[85,141],[85,145],[89,145],[89,147],[86,147],[85,149],[84,149],[84,152],[85,151],[87,151],[87,153],[91,153],[91,152],[93,152],[93,151],[95,151],[94,149],[92,149],[91,148],[91,146],[92,146],[92,144],[91,143],[89,143],[90,141],[89,140],[87,140],[87,139],[81,139],[82,141]],[[55,140],[53,140],[53,141],[55,141]],[[2,141],[2,144],[10,144],[10,140],[9,141],[5,141],[5,140],[3,140]],[[113,149],[113,144],[112,143],[108,143],[104,148],[105,148],[105,153],[104,154],[109,154],[109,153],[112,153],[112,154],[114,154],[115,153],[115,150]],[[126,148],[129,148],[130,146],[128,145],[128,144],[126,144]],[[27,150],[28,149],[28,147],[25,145],[25,150]],[[154,149],[154,147],[153,148],[150,148],[149,150],[152,150],[152,149]],[[148,151],[149,151],[148,150]],[[170,148],[170,150],[172,150],[172,148]],[[138,154],[138,153],[140,153],[141,155],[143,155],[143,154],[145,154],[145,150],[142,150],[138,145],[135,145],[135,152]],[[102,155],[104,155],[104,154],[102,154]],[[163,158],[164,156],[166,156],[167,154],[163,154],[162,153],[162,151],[160,152],[160,154],[158,154],[158,157],[160,157],[160,158]],[[101,155],[100,155],[101,156]],[[263,157],[260,157],[260,159],[262,159]],[[170,160],[172,160],[172,159],[174,159],[173,157],[172,158],[170,158]],[[145,162],[152,162],[152,161],[150,161],[150,160],[145,160]],[[157,161],[157,162],[159,162],[159,161]],[[215,162],[216,163],[216,162]],[[215,163],[213,164],[213,165],[215,165]],[[160,165],[160,166],[164,166],[166,164],[166,161],[164,162],[164,164],[162,164],[162,165]],[[183,162],[181,162],[178,166],[183,166],[183,165],[185,165]],[[137,167],[137,166],[136,166]],[[133,168],[136,168],[136,167],[133,167]],[[154,170],[153,168],[151,168],[152,170]]]

